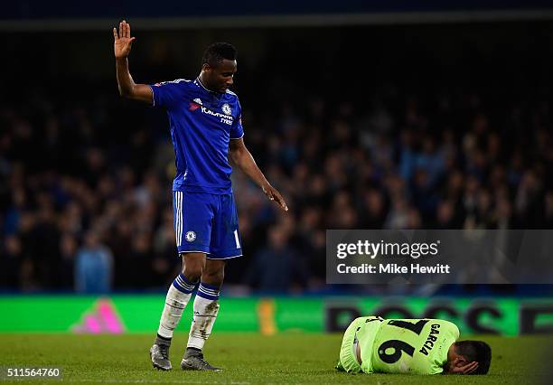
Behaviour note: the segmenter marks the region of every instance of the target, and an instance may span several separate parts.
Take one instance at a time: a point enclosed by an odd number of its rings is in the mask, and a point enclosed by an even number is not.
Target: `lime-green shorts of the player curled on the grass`
[[[336,369],[339,371],[346,371],[348,373],[359,373],[361,371],[370,373],[372,372],[372,365],[370,363],[370,352],[372,352],[372,343],[376,337],[376,333],[380,329],[380,322],[371,320],[380,319],[370,315],[368,317],[355,318],[353,322],[348,326],[342,338],[342,347],[340,348],[340,360],[336,365]],[[362,367],[357,362],[357,353],[353,350],[353,341],[357,337],[358,343],[361,347],[361,360]]]

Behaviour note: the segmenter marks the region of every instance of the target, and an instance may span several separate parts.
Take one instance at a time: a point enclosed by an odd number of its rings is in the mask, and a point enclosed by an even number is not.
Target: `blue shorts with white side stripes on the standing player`
[[[241,257],[242,243],[233,194],[173,192],[173,225],[180,253],[208,259]]]

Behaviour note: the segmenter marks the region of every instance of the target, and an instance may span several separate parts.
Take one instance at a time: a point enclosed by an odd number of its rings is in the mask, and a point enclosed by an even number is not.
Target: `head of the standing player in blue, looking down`
[[[208,89],[225,92],[232,86],[238,52],[228,42],[214,42],[203,52],[202,81]]]

